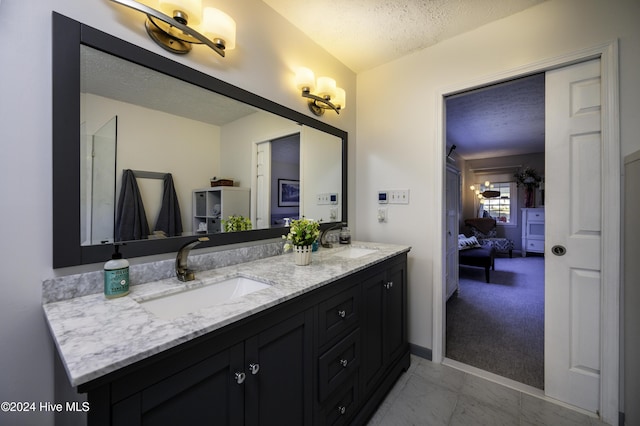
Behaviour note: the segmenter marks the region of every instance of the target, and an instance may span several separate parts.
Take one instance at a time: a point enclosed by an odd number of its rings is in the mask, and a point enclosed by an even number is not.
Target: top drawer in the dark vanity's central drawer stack
[[[355,326],[359,320],[360,287],[354,286],[318,306],[318,338],[320,346]]]

